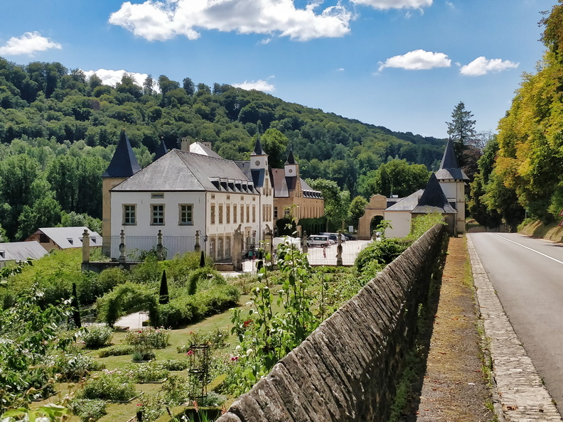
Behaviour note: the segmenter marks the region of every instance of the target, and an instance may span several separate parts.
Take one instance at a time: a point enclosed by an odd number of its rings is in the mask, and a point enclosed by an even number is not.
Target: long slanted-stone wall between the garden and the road
[[[218,422],[386,421],[444,239],[444,226],[430,229]]]

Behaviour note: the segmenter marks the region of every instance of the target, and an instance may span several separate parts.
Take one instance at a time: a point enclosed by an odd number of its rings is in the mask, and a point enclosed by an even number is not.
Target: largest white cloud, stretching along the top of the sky
[[[200,29],[288,36],[301,41],[342,37],[350,32],[350,11],[338,3],[315,13],[320,4],[296,9],[294,0],[126,1],[109,16],[109,23],[149,41],[176,36],[195,40],[200,37]]]

